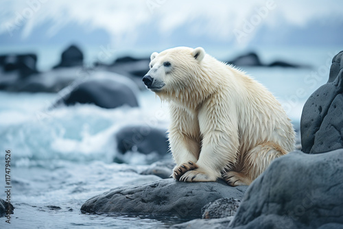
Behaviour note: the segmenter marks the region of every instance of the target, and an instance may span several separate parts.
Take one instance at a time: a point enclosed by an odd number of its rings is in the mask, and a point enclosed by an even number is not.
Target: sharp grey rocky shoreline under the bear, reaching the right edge
[[[274,160],[248,188],[158,180],[92,197],[82,212],[198,218],[172,228],[343,228],[342,54],[333,58],[329,82],[303,108],[303,152]]]

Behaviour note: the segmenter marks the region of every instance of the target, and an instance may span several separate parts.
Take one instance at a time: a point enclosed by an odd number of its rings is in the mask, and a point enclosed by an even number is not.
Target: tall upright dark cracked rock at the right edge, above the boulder
[[[343,51],[333,58],[329,80],[307,99],[301,115],[303,152],[343,148]]]

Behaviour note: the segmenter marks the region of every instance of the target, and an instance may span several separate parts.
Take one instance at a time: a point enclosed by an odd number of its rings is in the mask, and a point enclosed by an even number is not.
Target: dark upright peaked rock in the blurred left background
[[[60,63],[54,69],[61,67],[82,67],[84,54],[76,45],[71,45],[62,52]]]

